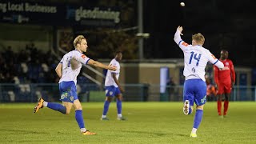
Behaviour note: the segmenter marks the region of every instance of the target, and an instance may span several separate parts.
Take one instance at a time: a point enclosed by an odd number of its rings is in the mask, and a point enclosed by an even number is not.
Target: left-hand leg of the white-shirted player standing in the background
[[[106,99],[104,102],[101,120],[109,120],[108,118],[106,118],[106,114],[109,110],[110,102],[112,101],[113,97],[114,97],[114,86],[106,86]]]

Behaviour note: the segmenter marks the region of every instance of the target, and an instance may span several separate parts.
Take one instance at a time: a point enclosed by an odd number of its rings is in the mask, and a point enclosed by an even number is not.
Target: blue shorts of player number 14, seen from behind
[[[184,83],[183,102],[190,101],[190,106],[202,106],[206,103],[206,82],[202,79],[188,79]]]

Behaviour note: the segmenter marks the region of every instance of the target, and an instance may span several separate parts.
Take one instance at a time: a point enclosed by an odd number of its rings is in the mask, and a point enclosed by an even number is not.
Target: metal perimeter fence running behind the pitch
[[[126,84],[123,85],[126,102],[178,102],[182,101],[183,86],[166,86],[166,92],[160,93],[160,85]],[[81,102],[103,102],[105,90],[96,84],[78,84],[78,98]],[[36,102],[44,98],[50,102],[58,102],[60,98],[58,84],[0,84],[0,102]],[[214,101],[212,96],[207,98]],[[256,86],[234,86],[231,101],[255,101]]]

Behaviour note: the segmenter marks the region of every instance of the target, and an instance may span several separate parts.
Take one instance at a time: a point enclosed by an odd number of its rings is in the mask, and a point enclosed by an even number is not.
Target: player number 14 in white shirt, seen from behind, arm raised
[[[202,47],[205,42],[205,38],[202,34],[194,34],[192,36],[192,45],[189,45],[184,42],[180,36],[182,30],[182,26],[178,26],[174,34],[174,41],[182,49],[184,54],[183,75],[186,80],[183,90],[183,112],[184,114],[191,114],[194,102],[197,105],[197,110],[194,115],[194,126],[190,134],[190,137],[196,138],[198,126],[202,121],[203,106],[206,103],[206,65],[208,62],[211,62],[220,69],[222,69],[224,65],[214,57],[214,54],[211,54],[209,50]]]

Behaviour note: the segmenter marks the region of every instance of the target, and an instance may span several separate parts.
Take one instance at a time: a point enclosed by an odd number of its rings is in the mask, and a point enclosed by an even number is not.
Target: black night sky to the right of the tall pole
[[[230,52],[234,65],[256,66],[255,8],[253,1],[186,0],[144,1],[146,58],[182,58],[174,43],[177,26],[183,26],[183,40],[191,43],[192,34],[202,33],[205,47],[219,58],[220,50]]]

